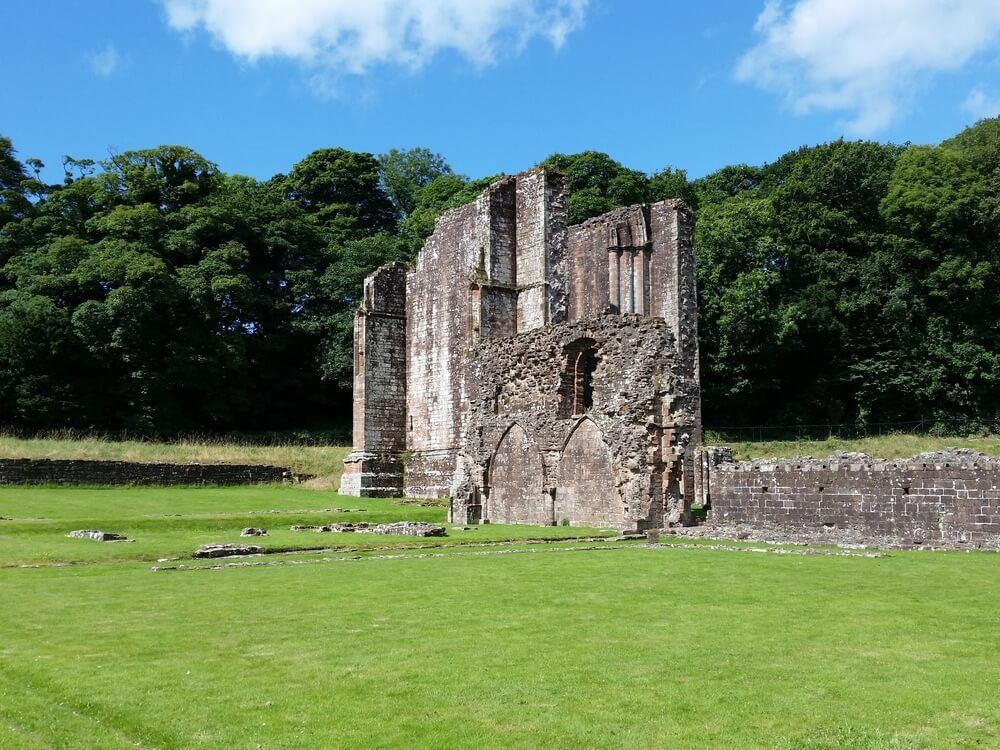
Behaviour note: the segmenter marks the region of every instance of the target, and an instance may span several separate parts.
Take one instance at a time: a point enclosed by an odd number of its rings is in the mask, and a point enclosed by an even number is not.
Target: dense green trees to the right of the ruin
[[[694,183],[709,424],[995,424],[996,123]]]

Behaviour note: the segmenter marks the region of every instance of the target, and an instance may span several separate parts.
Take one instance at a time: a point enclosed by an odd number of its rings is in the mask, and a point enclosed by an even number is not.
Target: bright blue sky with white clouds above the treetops
[[[0,28],[0,134],[50,179],[163,143],[259,178],[325,146],[700,176],[1000,114],[997,0],[8,0]]]

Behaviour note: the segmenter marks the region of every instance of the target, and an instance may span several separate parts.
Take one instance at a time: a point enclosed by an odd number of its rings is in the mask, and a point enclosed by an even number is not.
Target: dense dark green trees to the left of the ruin
[[[163,434],[346,419],[357,290],[397,255],[394,236],[370,234],[395,227],[373,157],[317,152],[267,183],[174,146],[96,174],[70,161],[0,231],[3,424]]]

